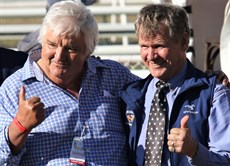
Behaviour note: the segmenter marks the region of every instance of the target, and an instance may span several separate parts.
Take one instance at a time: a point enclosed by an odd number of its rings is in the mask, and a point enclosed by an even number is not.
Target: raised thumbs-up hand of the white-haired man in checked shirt
[[[44,104],[39,97],[25,99],[25,88],[22,86],[19,93],[17,119],[28,130],[32,130],[45,119]]]

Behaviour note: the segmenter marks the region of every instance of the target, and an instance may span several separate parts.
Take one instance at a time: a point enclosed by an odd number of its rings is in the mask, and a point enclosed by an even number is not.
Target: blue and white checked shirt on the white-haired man
[[[121,116],[122,88],[137,76],[117,62],[89,57],[79,98],[52,83],[31,54],[24,67],[8,77],[0,88],[0,165],[71,165],[72,141],[80,137],[86,165],[127,165],[126,134]],[[18,155],[9,148],[8,126],[18,111],[18,96],[38,96],[45,104],[46,119],[29,134]]]

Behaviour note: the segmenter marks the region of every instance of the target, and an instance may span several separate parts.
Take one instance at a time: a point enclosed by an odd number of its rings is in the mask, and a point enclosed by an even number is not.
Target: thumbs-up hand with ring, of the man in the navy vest
[[[192,138],[188,128],[189,116],[185,115],[181,119],[180,128],[172,128],[168,134],[168,149],[171,152],[193,157],[198,149],[198,143]]]

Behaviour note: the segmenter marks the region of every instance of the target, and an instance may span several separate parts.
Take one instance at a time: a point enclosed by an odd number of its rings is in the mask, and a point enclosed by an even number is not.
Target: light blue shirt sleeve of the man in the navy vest
[[[199,144],[191,165],[230,165],[230,89],[217,84],[208,118],[208,146]]]

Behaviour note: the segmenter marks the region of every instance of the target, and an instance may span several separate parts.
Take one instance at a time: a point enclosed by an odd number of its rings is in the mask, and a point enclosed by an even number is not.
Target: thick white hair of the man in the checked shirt
[[[83,34],[88,53],[92,53],[98,40],[98,25],[89,9],[80,0],[60,1],[46,14],[38,40],[43,42],[47,30],[57,36],[78,37]]]

